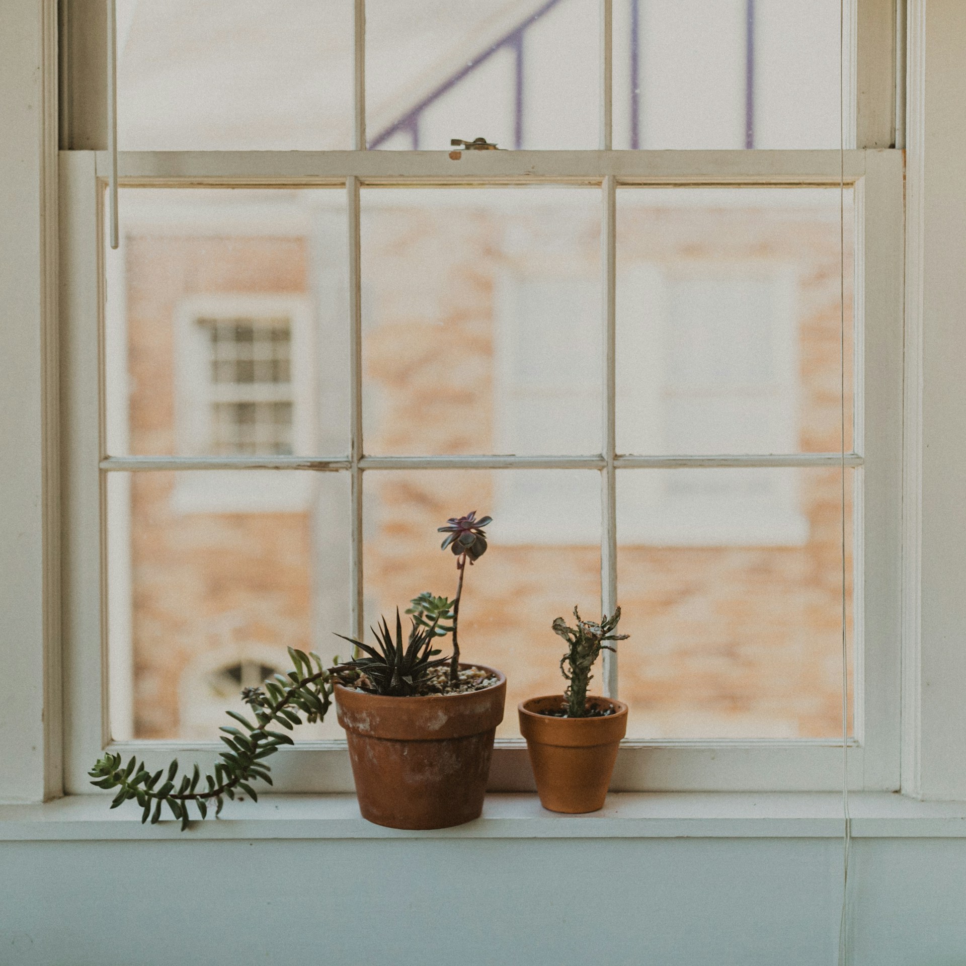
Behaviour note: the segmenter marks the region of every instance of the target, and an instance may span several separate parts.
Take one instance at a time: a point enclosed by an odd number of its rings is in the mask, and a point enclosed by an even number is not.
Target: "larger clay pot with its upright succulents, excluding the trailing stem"
[[[426,592],[412,600],[407,639],[396,611],[377,646],[350,640],[361,655],[337,668],[334,697],[346,729],[362,815],[398,829],[439,829],[479,817],[490,774],[506,678],[493,668],[460,663],[460,601],[466,568],[486,553],[490,517],[475,511],[450,519],[442,549],[456,556],[452,601]],[[440,658],[436,639],[452,635]]]

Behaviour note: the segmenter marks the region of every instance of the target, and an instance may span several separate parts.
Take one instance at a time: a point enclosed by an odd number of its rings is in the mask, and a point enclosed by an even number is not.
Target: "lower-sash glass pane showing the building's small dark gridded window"
[[[345,192],[122,188],[120,205],[108,452],[348,452]]]

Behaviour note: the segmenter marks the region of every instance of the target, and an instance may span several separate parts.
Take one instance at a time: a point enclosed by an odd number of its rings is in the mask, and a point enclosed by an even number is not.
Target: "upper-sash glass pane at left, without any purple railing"
[[[353,143],[345,0],[117,0],[122,151]]]

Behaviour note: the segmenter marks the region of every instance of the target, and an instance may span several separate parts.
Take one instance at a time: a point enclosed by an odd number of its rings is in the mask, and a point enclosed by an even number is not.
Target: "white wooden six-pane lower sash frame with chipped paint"
[[[880,4],[881,6],[881,4]],[[869,6],[871,9],[871,6]],[[603,0],[605,18],[610,3]],[[361,36],[361,4],[356,31]],[[860,16],[860,43],[863,36]],[[610,50],[605,44],[605,71]],[[215,743],[114,742],[108,724],[109,685],[105,637],[107,554],[104,536],[105,478],[116,471],[146,469],[312,469],[346,471],[352,481],[352,624],[362,631],[361,481],[367,469],[598,469],[604,517],[602,608],[616,604],[614,473],[618,467],[804,467],[856,468],[857,546],[855,599],[855,737],[847,747],[848,782],[854,789],[899,787],[899,651],[902,505],[902,153],[889,149],[838,151],[610,150],[610,76],[602,85],[605,118],[600,151],[480,152],[459,160],[445,152],[365,151],[362,48],[356,44],[355,145],[352,152],[127,153],[119,158],[122,185],[339,186],[349,204],[349,312],[352,333],[352,428],[350,451],[335,457],[118,457],[104,450],[103,345],[104,188],[111,158],[105,152],[61,155],[61,315],[64,386],[64,582],[66,690],[70,717],[65,787],[90,790],[87,770],[105,748],[136,749],[149,765],[172,753],[194,755],[211,765]],[[861,51],[860,47],[860,51]],[[862,58],[860,56],[860,72]],[[872,74],[881,68],[873,58]],[[862,90],[862,85],[859,85]],[[882,92],[875,97],[881,99]],[[860,143],[874,144],[881,124],[859,104]],[[889,92],[892,97],[892,91]],[[879,104],[878,106],[881,106]],[[876,114],[879,117],[881,111]],[[881,120],[881,118],[880,118]],[[885,142],[888,143],[888,140]],[[840,166],[841,165],[841,166]],[[838,453],[774,456],[619,456],[614,446],[615,190],[618,185],[838,185],[855,191],[856,358],[875,379],[863,384],[856,371],[855,445]],[[601,452],[582,457],[373,457],[364,452],[361,399],[361,307],[359,261],[360,185],[599,185],[603,212],[604,340],[608,418]],[[869,508],[866,512],[865,507]],[[864,606],[863,606],[864,605]],[[616,687],[618,658],[604,670],[609,693]],[[512,709],[509,709],[512,713]],[[618,758],[615,790],[835,790],[841,786],[840,740],[821,741],[629,741]],[[351,791],[342,742],[317,742],[279,753],[273,761],[275,790]],[[491,787],[532,787],[521,740],[497,742]]]

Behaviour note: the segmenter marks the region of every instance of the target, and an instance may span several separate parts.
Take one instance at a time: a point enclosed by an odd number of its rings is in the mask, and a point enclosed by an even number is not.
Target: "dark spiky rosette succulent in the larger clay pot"
[[[447,659],[437,658],[440,652],[433,650],[438,631],[437,622],[433,620],[432,623],[420,627],[413,618],[409,639],[404,645],[399,608],[396,608],[395,639],[384,617],[381,621],[378,628],[372,628],[379,650],[361,640],[336,635],[355,644],[363,656],[347,661],[338,668],[332,668],[332,672],[338,680],[377,695],[411,697],[417,693],[420,683],[432,668],[446,663]]]

